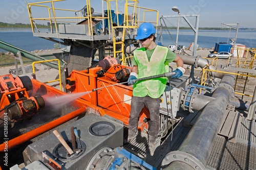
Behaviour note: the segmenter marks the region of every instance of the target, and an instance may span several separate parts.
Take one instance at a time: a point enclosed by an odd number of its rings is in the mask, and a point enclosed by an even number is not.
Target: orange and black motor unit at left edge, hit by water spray
[[[40,95],[30,96],[27,91],[32,89],[28,76],[13,78],[12,75],[0,77],[0,113],[12,123],[23,120],[45,107],[45,101]],[[5,112],[5,113],[4,113]]]

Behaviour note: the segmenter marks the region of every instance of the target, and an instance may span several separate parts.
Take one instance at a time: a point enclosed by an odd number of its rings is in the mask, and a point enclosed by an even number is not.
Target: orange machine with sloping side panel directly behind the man
[[[115,60],[115,58],[112,59]],[[92,91],[82,96],[81,99],[102,108],[105,114],[121,120],[124,125],[129,125],[133,88],[125,82],[130,73],[131,67],[120,65],[118,62],[110,62],[105,58],[99,62],[97,67],[82,71],[73,70],[67,78],[66,88],[72,93]],[[102,88],[105,86],[110,87]],[[100,89],[94,91],[96,88]],[[141,131],[144,128],[148,129],[149,117],[150,114],[144,107],[138,126]]]

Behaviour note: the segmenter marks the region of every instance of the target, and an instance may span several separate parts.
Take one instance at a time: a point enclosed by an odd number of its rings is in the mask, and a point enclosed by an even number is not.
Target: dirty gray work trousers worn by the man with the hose
[[[132,96],[128,135],[129,137],[133,137],[136,135],[139,114],[144,106],[146,106],[148,111],[150,111],[151,119],[151,126],[149,127],[150,131],[148,131],[148,142],[154,143],[157,139],[157,134],[159,132],[160,98],[154,99],[150,96]]]

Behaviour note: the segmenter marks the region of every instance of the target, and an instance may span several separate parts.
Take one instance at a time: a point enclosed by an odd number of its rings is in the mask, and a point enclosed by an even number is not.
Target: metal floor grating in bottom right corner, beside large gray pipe
[[[214,169],[255,169],[256,148],[243,143],[231,143],[217,136],[207,166]]]

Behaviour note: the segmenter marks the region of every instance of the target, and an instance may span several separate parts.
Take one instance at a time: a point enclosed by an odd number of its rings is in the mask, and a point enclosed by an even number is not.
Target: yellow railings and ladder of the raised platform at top
[[[33,33],[35,32],[34,27],[33,26],[33,22],[35,22],[35,20],[47,20],[50,22],[50,27],[51,27],[51,32],[54,33],[54,29],[53,29],[53,24],[52,22],[54,22],[55,25],[55,32],[58,35],[58,30],[57,30],[57,23],[60,22],[75,22],[77,23],[77,19],[80,19],[80,21],[82,21],[82,19],[87,19],[88,20],[88,28],[89,28],[89,36],[93,36],[93,22],[92,19],[97,18],[97,19],[101,19],[102,22],[104,22],[104,19],[108,19],[108,29],[109,29],[109,33],[112,32],[112,39],[113,39],[113,48],[114,48],[114,57],[117,57],[117,54],[121,53],[121,59],[120,61],[122,62],[122,64],[124,64],[124,37],[126,35],[126,30],[128,29],[138,29],[139,24],[143,23],[143,22],[151,22],[154,23],[156,25],[156,27],[158,26],[158,16],[159,16],[159,12],[157,10],[153,10],[153,9],[148,9],[148,8],[143,8],[143,7],[139,7],[139,1],[138,0],[102,0],[102,2],[106,3],[106,7],[107,7],[107,13],[108,16],[106,17],[99,17],[99,16],[92,16],[92,11],[91,11],[91,2],[90,0],[86,1],[86,5],[87,5],[87,16],[82,16],[81,15],[81,11],[77,11],[77,10],[67,10],[67,9],[59,9],[59,8],[55,8],[54,7],[54,3],[56,2],[60,2],[60,1],[65,1],[65,0],[55,0],[55,1],[46,1],[46,2],[39,2],[39,3],[30,3],[28,4],[28,12],[29,12],[29,17],[30,17],[30,23],[31,23],[31,27],[32,27],[32,31]],[[122,25],[119,25],[119,17],[117,17],[117,26],[113,25],[113,20],[112,20],[112,12],[110,12],[112,9],[115,9],[116,11],[116,15],[118,16],[118,2],[124,2],[124,19],[123,19],[123,23]],[[116,8],[111,8],[111,3],[115,4]],[[46,4],[50,4],[51,8],[49,8]],[[32,17],[32,9],[31,7],[42,7],[42,8],[47,8],[48,9],[48,13],[49,13],[49,17],[47,18],[33,18]],[[133,11],[132,13],[132,17],[129,16],[129,10]],[[55,11],[67,11],[67,12],[79,12],[79,16],[72,16],[72,17],[56,17],[56,12]],[[143,17],[140,18],[140,12],[143,11]],[[146,14],[148,14],[148,12],[154,12],[156,13],[156,18],[155,20],[145,20],[145,16]],[[66,19],[66,20],[59,20],[59,19]],[[75,20],[75,21],[74,21]],[[112,30],[110,30],[112,29]],[[123,29],[122,32],[122,36],[121,38],[116,38],[115,31],[114,29]],[[117,49],[117,45],[120,45],[120,50],[119,48]]]

